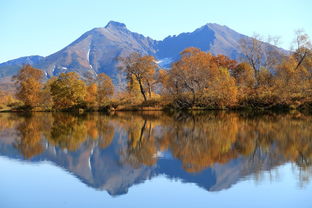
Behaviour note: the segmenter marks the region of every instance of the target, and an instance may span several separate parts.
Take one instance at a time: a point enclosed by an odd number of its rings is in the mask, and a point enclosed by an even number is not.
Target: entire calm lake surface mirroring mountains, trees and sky
[[[0,114],[0,207],[312,207],[312,116]]]

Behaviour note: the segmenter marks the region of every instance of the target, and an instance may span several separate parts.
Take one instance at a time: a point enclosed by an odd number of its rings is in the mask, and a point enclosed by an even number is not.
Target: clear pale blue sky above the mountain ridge
[[[218,23],[288,49],[295,29],[312,36],[312,0],[0,0],[0,62],[50,55],[109,20],[157,40]]]

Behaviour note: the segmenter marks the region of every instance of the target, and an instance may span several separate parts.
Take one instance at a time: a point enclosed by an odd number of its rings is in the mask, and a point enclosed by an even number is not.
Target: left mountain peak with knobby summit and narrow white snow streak
[[[130,32],[118,22],[109,22],[104,28],[92,29],[69,46],[37,63],[49,76],[76,71],[83,75],[104,72],[113,76],[118,56],[132,52],[155,54],[155,41]]]

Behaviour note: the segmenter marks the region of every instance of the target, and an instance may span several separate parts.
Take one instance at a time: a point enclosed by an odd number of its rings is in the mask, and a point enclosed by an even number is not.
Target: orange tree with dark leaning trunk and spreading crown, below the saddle
[[[120,69],[127,74],[128,81],[132,78],[138,82],[140,92],[147,100],[146,91],[151,96],[152,84],[154,81],[157,64],[153,56],[141,56],[138,53],[132,53],[127,57],[120,57]]]

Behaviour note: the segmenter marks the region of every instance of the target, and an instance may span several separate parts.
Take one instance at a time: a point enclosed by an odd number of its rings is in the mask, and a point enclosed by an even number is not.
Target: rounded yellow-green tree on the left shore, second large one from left
[[[75,72],[62,73],[51,84],[51,95],[55,109],[66,109],[84,102],[86,84]]]

